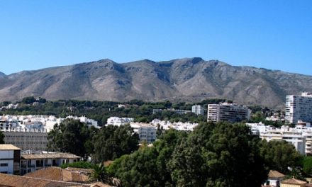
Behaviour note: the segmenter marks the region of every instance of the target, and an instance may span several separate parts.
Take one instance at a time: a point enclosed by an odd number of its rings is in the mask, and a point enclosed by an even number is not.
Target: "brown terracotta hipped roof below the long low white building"
[[[89,176],[78,171],[68,171],[59,167],[47,167],[31,173],[25,176],[39,178],[39,179],[50,179],[55,181],[73,181],[73,182],[87,182]]]

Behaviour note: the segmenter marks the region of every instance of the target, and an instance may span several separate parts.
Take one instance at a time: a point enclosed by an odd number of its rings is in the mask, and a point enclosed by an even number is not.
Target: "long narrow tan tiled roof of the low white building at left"
[[[75,154],[70,153],[44,153],[44,154],[21,154],[22,159],[81,159]]]

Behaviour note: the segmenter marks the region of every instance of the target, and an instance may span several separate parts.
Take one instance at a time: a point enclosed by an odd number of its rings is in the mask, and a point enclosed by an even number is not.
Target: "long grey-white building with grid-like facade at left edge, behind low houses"
[[[46,150],[48,147],[48,132],[28,130],[26,128],[4,129],[4,142],[15,145],[22,150]]]

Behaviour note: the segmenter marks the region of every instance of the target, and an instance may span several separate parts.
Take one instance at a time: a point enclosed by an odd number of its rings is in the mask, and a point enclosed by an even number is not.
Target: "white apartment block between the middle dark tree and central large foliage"
[[[133,131],[138,133],[140,142],[147,142],[148,144],[156,140],[157,128],[148,123],[130,123]]]

